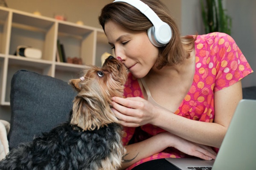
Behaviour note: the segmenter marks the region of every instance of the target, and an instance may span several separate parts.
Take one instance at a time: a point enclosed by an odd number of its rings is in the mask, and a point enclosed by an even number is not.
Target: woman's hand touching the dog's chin
[[[138,127],[157,117],[157,107],[141,97],[113,97],[113,112],[126,127]]]

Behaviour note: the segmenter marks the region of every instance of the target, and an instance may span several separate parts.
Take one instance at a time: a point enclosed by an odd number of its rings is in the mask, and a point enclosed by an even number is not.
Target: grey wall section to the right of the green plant
[[[256,0],[226,0],[227,13],[232,16],[231,36],[256,72]],[[243,87],[256,86],[256,73],[242,80]]]

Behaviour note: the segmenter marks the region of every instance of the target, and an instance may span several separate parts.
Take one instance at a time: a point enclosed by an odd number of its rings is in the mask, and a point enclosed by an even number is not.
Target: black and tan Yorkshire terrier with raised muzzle
[[[123,96],[127,69],[113,56],[102,68],[86,65],[69,84],[78,92],[70,121],[20,144],[0,161],[0,170],[116,170],[126,150],[111,97]]]

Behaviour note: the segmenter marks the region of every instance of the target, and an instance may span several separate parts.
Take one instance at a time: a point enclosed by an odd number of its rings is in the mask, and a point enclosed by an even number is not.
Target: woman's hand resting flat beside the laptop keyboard
[[[190,142],[169,132],[163,132],[162,135],[167,135],[170,137],[170,147],[175,147],[177,150],[180,150],[187,155],[196,156],[205,160],[212,160],[216,158],[217,153],[212,150],[212,147]]]

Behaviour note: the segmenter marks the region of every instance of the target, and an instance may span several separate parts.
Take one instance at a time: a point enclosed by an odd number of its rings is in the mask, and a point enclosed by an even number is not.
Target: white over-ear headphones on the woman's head
[[[172,38],[171,27],[163,22],[149,6],[140,0],[115,0],[115,2],[128,3],[143,13],[153,24],[148,28],[148,38],[157,47],[165,46]]]

